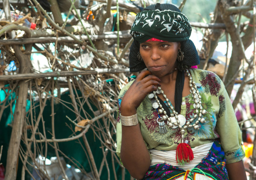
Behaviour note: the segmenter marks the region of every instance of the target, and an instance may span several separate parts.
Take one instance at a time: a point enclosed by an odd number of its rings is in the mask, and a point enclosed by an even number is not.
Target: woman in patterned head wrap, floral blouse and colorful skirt
[[[200,63],[191,26],[173,5],[136,16],[119,94],[117,155],[137,179],[246,179],[241,134],[222,81]]]

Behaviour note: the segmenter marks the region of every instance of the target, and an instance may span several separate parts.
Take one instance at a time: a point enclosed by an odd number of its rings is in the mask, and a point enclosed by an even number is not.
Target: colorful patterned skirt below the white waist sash
[[[228,179],[225,164],[226,158],[221,144],[215,141],[208,155],[195,168],[186,171],[171,164],[155,164],[149,167],[143,179],[197,179],[197,176],[204,175],[205,178],[201,179],[224,180]]]

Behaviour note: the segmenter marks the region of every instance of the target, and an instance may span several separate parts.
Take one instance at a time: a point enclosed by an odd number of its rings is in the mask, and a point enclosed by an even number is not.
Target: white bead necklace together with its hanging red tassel
[[[179,149],[180,152],[177,152],[176,150],[176,161],[179,164],[184,164],[184,162],[189,162],[194,158],[193,151],[191,150],[191,147],[185,142],[184,143],[184,134],[185,129],[188,127],[194,127],[194,129],[199,129],[199,122],[205,123],[205,118],[202,118],[202,115],[206,114],[206,110],[203,110],[202,107],[202,101],[201,101],[201,95],[199,94],[199,91],[197,90],[197,85],[195,81],[193,81],[191,74],[186,69],[186,74],[189,78],[189,87],[190,92],[193,94],[194,99],[194,107],[196,108],[196,114],[193,118],[189,119],[186,122],[186,118],[178,114],[178,112],[175,111],[174,107],[171,105],[169,99],[164,94],[164,91],[161,89],[161,87],[158,87],[157,91],[153,91],[153,93],[149,94],[148,97],[150,99],[155,99],[155,102],[153,102],[152,106],[153,108],[157,109],[158,112],[158,118],[157,123],[159,125],[159,133],[164,134],[167,132],[165,122],[164,120],[167,119],[167,126],[169,128],[179,128],[181,133],[181,143],[179,143],[177,149]],[[172,110],[172,113],[170,113],[170,117],[168,117],[167,112],[164,110],[162,104],[160,103],[157,94],[163,94],[163,97],[165,98],[165,101],[167,102],[168,107]],[[163,114],[162,117],[160,117],[159,114]],[[198,117],[198,120],[194,124],[190,124]],[[185,148],[185,149],[184,149]],[[182,151],[187,152],[186,154],[183,154]]]

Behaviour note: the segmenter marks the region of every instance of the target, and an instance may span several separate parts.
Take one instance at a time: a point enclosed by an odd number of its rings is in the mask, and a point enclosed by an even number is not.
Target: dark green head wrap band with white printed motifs
[[[154,10],[137,14],[131,35],[139,43],[152,37],[168,42],[181,42],[189,39],[191,31],[184,14],[171,10]]]

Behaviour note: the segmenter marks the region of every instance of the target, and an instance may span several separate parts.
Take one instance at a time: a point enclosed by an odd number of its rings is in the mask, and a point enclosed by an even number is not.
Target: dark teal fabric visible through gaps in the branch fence
[[[5,98],[5,92],[3,92],[4,90],[0,91],[0,100],[3,101]],[[81,93],[79,93],[79,96],[82,96]],[[16,95],[15,93],[13,93],[12,95],[10,95],[8,101],[6,102],[6,104],[10,103],[12,99],[15,99]],[[69,108],[72,108],[71,105],[71,98],[70,98],[70,93],[66,92],[65,94],[61,95],[61,100],[63,101],[67,101],[70,102],[70,104],[66,104]],[[90,103],[93,110],[97,110],[95,106],[93,106],[92,103]],[[36,106],[35,108],[35,114],[36,117],[38,117],[39,114],[39,104],[38,102],[36,102],[35,104],[32,105],[32,107]],[[27,101],[27,107],[26,110],[28,112],[30,108],[30,101]],[[91,112],[91,110],[89,109],[89,107],[86,105],[84,105],[84,109],[92,116],[93,118],[93,113]],[[15,101],[12,103],[12,111],[14,112],[15,110]],[[63,106],[62,104],[58,103],[58,104],[54,104],[54,126],[55,126],[55,135],[56,135],[56,139],[61,139],[61,138],[68,138],[71,135],[76,135],[79,134],[80,132],[77,132],[76,134],[73,134],[72,130],[68,127],[72,126],[72,129],[75,129],[74,124],[72,124],[66,117],[66,115],[68,115],[71,119],[76,119],[76,115],[69,110],[67,107]],[[82,113],[82,112],[81,112]],[[1,162],[3,163],[4,166],[6,166],[6,160],[7,160],[7,150],[8,150],[8,146],[9,146],[9,140],[11,137],[11,131],[12,128],[10,127],[10,125],[13,119],[13,113],[11,113],[11,109],[10,107],[6,108],[4,110],[2,119],[0,121],[0,146],[3,145],[3,154],[2,154],[2,159]],[[46,102],[46,107],[43,111],[43,120],[44,120],[44,124],[45,124],[45,131],[46,131],[46,136],[47,138],[51,139],[52,135],[51,135],[51,105],[50,105],[50,99],[47,100]],[[84,116],[84,115],[83,115]],[[30,118],[30,114],[27,114],[27,117]],[[95,122],[94,125],[98,126],[100,123],[102,126],[104,126],[102,119],[100,119],[98,122]],[[42,131],[42,123],[40,122],[39,125],[39,131]],[[111,128],[110,128],[111,131]],[[28,135],[30,136],[31,134],[31,130],[28,129],[27,130]],[[98,140],[98,138],[95,136],[93,130],[90,128],[88,130],[88,132],[86,133],[86,137],[87,140],[90,144],[92,153],[94,155],[94,160],[96,162],[96,166],[97,169],[100,168],[100,164],[103,158],[103,154],[102,154],[102,149],[101,147],[101,142],[100,140]],[[36,137],[37,139],[39,139],[39,136]],[[116,139],[115,136],[112,137],[114,140]],[[85,148],[84,142],[82,137],[79,138],[79,141],[83,144],[83,148]],[[38,143],[37,144],[39,146],[39,148],[42,148],[42,152],[45,152],[45,143]],[[41,147],[42,145],[42,147]],[[81,166],[83,166],[83,168],[87,171],[90,172],[91,168],[88,162],[88,159],[86,157],[86,153],[84,152],[83,148],[81,147],[81,145],[78,143],[78,140],[73,140],[73,141],[69,141],[69,142],[60,142],[58,143],[59,149],[65,153],[68,157],[70,157],[71,159],[76,159],[77,160],[77,164],[81,164]],[[24,144],[22,144],[22,147],[24,149],[26,149],[26,147],[24,146]],[[33,145],[32,145],[33,147]],[[105,149],[105,148],[104,148]],[[32,149],[33,151],[34,149]],[[37,154],[38,155],[38,154]],[[62,156],[59,153],[60,156]],[[50,157],[54,157],[55,155],[55,151],[54,149],[48,145],[47,146],[47,158]],[[107,153],[107,162],[108,162],[108,167],[110,170],[110,179],[114,179],[114,174],[113,174],[113,169],[112,169],[112,161],[111,161],[111,154],[110,152]],[[65,161],[67,164],[69,165],[73,165],[72,162],[70,162],[68,160],[68,158],[65,158]],[[114,159],[115,162],[115,171],[116,171],[116,175],[117,175],[117,179],[121,179],[121,167],[119,166],[119,164],[117,163],[116,159]],[[22,161],[19,161],[19,167],[18,167],[18,174],[17,174],[17,179],[21,179],[21,169],[22,169]],[[33,168],[29,167],[29,169],[31,170],[31,172],[33,171]],[[108,177],[108,172],[107,169],[105,168],[105,165],[103,167],[100,179],[107,179]],[[30,175],[28,173],[26,173],[26,179],[31,179]],[[125,179],[130,179],[130,174],[129,172],[126,170],[125,171]]]

